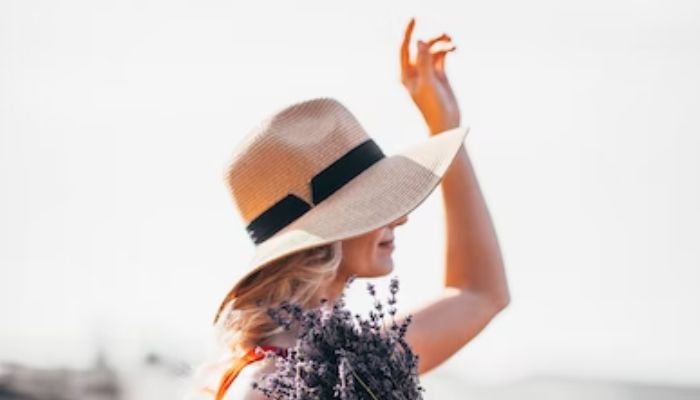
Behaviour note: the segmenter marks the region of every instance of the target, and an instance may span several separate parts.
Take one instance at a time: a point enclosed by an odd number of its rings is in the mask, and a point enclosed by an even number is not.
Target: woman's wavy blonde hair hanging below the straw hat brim
[[[341,259],[341,242],[332,242],[282,257],[246,279],[214,325],[218,352],[223,354],[195,369],[186,398],[213,398],[222,374],[233,362],[284,330],[270,318],[268,307],[283,302],[304,309],[320,307],[316,304],[319,289],[336,277]]]

